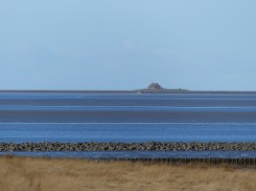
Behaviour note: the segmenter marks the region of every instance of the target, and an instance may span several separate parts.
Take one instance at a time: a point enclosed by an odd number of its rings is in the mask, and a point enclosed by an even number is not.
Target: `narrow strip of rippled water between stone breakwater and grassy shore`
[[[256,158],[256,152],[251,151],[104,151],[104,152],[1,152],[0,155],[15,155],[24,157],[50,157],[50,158],[79,158],[79,159],[152,159],[152,158],[179,158],[179,159],[207,159],[226,158],[244,159]]]

